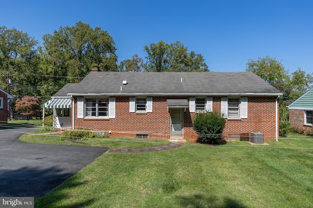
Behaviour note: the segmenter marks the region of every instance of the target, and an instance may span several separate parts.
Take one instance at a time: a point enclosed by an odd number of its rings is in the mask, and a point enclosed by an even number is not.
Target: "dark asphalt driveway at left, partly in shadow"
[[[0,130],[0,196],[39,198],[108,151],[103,147],[41,145],[18,140],[34,129]]]

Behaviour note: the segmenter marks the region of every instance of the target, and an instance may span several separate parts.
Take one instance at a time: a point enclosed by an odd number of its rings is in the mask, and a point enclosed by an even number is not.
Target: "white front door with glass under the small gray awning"
[[[171,109],[171,138],[182,138],[182,109]]]

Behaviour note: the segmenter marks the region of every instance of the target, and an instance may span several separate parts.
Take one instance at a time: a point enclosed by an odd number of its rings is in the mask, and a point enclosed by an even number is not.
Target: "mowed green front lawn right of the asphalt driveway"
[[[312,137],[268,144],[107,152],[36,199],[35,207],[313,207]]]

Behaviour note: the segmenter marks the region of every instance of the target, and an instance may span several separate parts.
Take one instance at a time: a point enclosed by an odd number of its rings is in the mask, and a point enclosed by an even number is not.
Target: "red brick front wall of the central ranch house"
[[[115,98],[115,118],[77,118],[77,98],[75,98],[74,127],[89,128],[94,131],[111,131],[112,136],[135,136],[149,134],[149,137],[170,138],[170,113],[166,99],[189,97],[153,97],[153,112],[136,114],[129,112],[129,97]],[[262,132],[265,140],[275,139],[275,99],[276,97],[248,97],[248,118],[227,119],[223,137],[228,134]],[[213,109],[221,112],[221,97],[213,97]],[[193,130],[189,108],[183,113],[184,138],[196,140],[197,132]]]

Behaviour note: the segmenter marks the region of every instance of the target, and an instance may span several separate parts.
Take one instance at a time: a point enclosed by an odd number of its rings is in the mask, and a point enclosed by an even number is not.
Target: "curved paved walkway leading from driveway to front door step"
[[[143,147],[143,148],[121,148],[121,149],[110,149],[111,153],[138,153],[138,152],[151,152],[151,151],[162,151],[178,148],[185,144],[185,141],[171,141],[170,143],[156,147]]]

